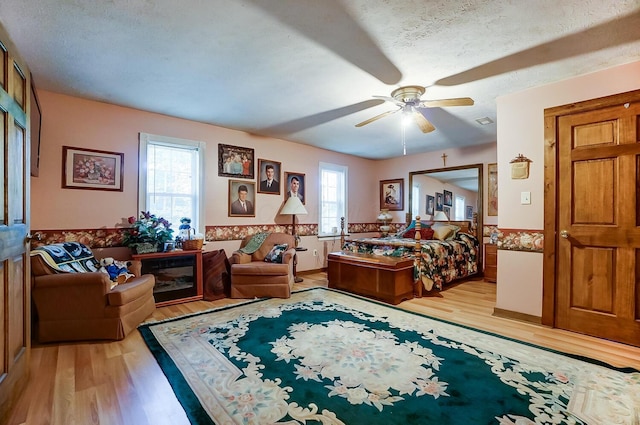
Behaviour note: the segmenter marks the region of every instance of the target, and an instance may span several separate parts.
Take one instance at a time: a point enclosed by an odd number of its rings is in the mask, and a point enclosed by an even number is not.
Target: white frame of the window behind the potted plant
[[[205,147],[206,143],[182,139],[177,137],[161,136],[150,133],[140,133],[138,146],[138,211],[148,211],[147,208],[147,152],[149,144],[168,146],[174,148],[189,148],[197,152],[197,185],[195,201],[195,217],[189,217],[192,220],[192,227],[198,233],[205,234],[205,198],[204,198],[204,182],[205,182]],[[177,234],[178,226],[180,223],[171,223],[174,228],[174,233]]]

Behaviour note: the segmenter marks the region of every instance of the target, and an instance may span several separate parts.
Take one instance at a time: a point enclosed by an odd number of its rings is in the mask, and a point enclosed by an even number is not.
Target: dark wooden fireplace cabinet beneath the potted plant
[[[202,299],[202,250],[175,250],[135,254],[142,273],[156,277],[153,297],[162,307]]]

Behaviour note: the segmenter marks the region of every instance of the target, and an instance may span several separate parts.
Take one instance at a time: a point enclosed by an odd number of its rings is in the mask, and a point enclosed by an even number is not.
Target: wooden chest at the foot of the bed
[[[390,304],[413,298],[413,260],[408,258],[332,252],[327,277],[329,288]]]

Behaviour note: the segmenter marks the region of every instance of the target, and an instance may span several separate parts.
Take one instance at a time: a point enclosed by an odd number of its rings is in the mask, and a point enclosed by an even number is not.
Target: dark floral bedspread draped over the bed
[[[423,240],[415,277],[427,291],[442,290],[444,284],[478,272],[478,239],[458,233],[452,240]],[[345,240],[342,250],[363,254],[415,258],[414,239],[389,236]]]

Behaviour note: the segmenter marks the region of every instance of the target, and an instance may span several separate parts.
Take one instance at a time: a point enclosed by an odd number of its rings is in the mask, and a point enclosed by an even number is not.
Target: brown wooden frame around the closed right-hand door
[[[544,110],[544,251],[542,265],[542,324],[555,327],[556,251],[558,249],[558,129],[562,116],[596,111],[624,103],[640,102],[640,90],[633,90]]]

